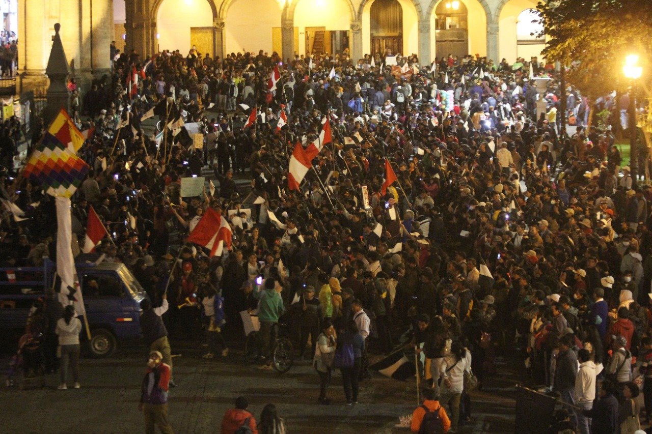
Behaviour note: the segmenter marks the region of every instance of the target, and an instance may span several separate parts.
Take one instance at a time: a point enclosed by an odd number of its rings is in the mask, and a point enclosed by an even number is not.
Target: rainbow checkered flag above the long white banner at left
[[[70,198],[89,171],[76,154],[82,145],[82,133],[61,109],[29,157],[24,176],[40,182],[50,195]]]

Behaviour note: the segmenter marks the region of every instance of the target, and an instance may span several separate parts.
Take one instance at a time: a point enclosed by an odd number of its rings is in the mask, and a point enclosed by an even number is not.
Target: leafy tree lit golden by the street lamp
[[[652,0],[553,0],[539,3],[546,59],[566,66],[566,80],[588,96],[623,90],[628,53],[650,77]]]

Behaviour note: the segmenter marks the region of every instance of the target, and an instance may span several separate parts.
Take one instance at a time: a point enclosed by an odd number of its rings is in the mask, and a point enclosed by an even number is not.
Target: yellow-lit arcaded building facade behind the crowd
[[[277,51],[353,59],[391,50],[417,53],[422,64],[452,53],[500,61],[539,55],[531,35],[537,0],[115,0],[125,7],[126,48],[178,49],[223,57]],[[121,15],[121,13],[119,13]]]

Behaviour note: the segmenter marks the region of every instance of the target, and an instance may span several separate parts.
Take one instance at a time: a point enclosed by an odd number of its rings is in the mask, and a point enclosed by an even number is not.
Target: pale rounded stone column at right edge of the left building
[[[93,0],[91,3],[91,68],[93,76],[107,74],[110,65],[110,45],[113,40],[113,0]]]

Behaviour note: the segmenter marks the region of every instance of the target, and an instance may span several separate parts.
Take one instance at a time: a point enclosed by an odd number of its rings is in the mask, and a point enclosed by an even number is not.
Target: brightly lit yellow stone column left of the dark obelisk
[[[18,10],[18,87],[25,93],[48,84],[46,46],[50,46],[51,38],[46,35],[44,0],[18,0]]]

